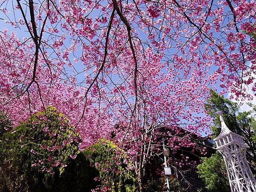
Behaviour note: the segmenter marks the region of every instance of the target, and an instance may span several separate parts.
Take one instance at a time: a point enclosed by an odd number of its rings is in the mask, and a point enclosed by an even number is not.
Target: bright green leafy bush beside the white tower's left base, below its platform
[[[197,166],[199,176],[204,180],[205,192],[229,192],[230,185],[227,177],[225,163],[221,154],[216,152],[212,157],[202,158],[203,163]]]

